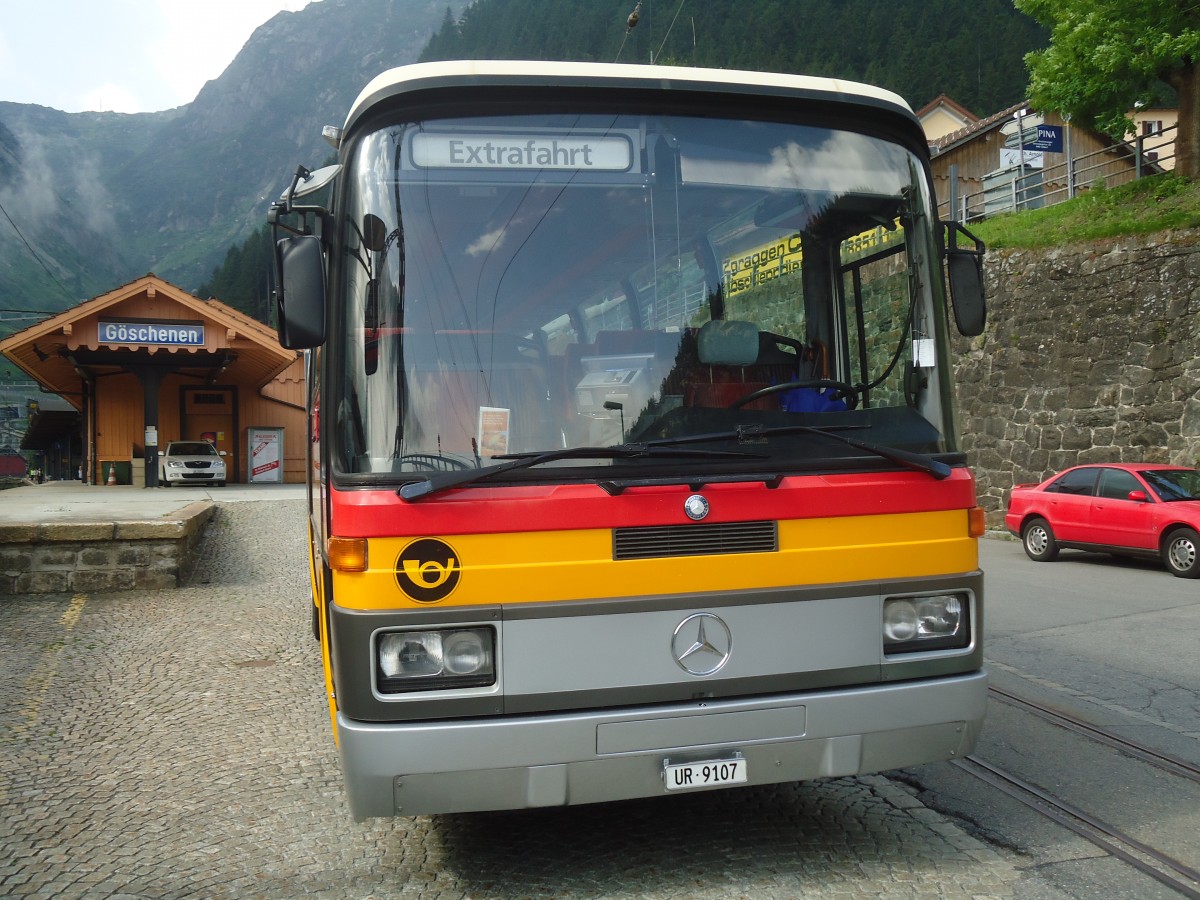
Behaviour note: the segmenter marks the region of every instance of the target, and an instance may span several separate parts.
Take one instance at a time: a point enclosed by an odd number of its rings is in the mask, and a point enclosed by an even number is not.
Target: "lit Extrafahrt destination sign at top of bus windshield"
[[[634,144],[624,134],[520,134],[428,132],[413,134],[409,158],[418,168],[552,169],[629,172]]]

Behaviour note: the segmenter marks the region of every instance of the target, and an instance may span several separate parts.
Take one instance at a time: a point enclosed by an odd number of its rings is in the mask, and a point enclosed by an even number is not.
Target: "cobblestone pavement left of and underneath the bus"
[[[0,601],[0,895],[1013,895],[880,776],[356,824],[305,578],[304,502],[232,503],[186,587]]]

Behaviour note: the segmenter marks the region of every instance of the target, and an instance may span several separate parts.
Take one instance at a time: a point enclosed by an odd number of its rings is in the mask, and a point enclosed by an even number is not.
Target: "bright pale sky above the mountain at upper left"
[[[256,28],[310,0],[0,0],[0,101],[67,113],[191,103]]]

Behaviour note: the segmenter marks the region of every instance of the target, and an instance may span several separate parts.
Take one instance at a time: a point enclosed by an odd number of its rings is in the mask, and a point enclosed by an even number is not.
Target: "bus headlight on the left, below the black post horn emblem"
[[[496,632],[490,628],[385,631],[376,638],[380,694],[479,688],[496,682]]]

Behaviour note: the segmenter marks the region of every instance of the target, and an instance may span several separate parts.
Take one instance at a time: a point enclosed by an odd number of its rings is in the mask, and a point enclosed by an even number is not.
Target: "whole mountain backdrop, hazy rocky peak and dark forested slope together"
[[[258,28],[176,109],[0,102],[0,310],[56,312],[148,271],[188,290],[260,286],[210,276],[222,260],[258,265],[239,247],[296,164],[329,158],[320,127],[342,124],[376,74],[419,58],[804,72],[880,84],[914,107],[946,92],[986,115],[1021,98],[1021,58],[1046,40],[1010,0],[643,0],[630,29],[635,2],[320,0]]]

